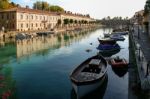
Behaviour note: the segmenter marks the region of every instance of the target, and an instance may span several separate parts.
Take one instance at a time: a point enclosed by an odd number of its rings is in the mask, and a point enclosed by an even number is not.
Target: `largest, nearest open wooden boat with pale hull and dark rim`
[[[107,71],[107,62],[101,55],[88,58],[70,75],[72,86],[81,98],[94,91],[103,83]]]

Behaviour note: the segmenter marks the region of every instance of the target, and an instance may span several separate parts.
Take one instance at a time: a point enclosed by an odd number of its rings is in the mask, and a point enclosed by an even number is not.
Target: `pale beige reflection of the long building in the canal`
[[[60,34],[51,34],[47,37],[36,37],[32,39],[18,40],[17,41],[17,57],[24,55],[30,55],[32,53],[46,50],[57,49],[66,45],[70,45],[72,42],[78,42],[85,36],[86,31],[81,33],[67,32]]]

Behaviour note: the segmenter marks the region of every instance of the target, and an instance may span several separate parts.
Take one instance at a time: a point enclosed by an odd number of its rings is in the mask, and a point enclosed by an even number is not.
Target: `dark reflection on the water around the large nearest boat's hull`
[[[103,84],[98,89],[89,93],[88,95],[84,96],[81,99],[103,99],[105,91],[107,89],[107,84],[108,84],[108,75],[106,76],[106,79],[104,80]],[[77,94],[74,89],[71,90],[71,99],[77,99]]]

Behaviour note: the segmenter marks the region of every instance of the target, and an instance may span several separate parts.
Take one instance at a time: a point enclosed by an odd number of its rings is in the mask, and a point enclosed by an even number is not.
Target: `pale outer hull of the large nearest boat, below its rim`
[[[89,83],[89,84],[87,83],[87,84],[83,84],[83,85],[77,85],[76,83],[72,82],[72,86],[77,94],[78,99],[82,98],[83,96],[87,95],[88,93],[90,93],[90,92],[96,90],[98,87],[100,87],[103,84],[105,78],[106,78],[106,75],[101,77],[96,82]]]

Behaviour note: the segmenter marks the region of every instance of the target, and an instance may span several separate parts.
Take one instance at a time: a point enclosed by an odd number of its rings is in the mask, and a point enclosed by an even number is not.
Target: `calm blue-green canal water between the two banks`
[[[11,99],[76,99],[69,75],[81,62],[98,53],[97,38],[102,37],[103,32],[103,29],[95,29],[17,42],[1,40],[0,95],[8,94]],[[118,42],[120,52],[111,57],[128,60],[128,36],[125,38]],[[88,98],[127,99],[127,70],[118,72],[108,67],[103,86],[87,95]]]

